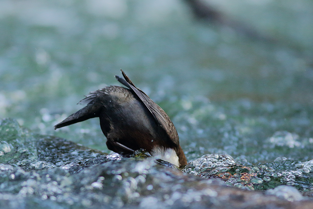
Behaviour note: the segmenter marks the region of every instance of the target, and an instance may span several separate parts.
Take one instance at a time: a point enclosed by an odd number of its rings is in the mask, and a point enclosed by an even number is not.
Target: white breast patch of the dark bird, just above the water
[[[172,163],[176,165],[177,167],[180,166],[179,161],[178,161],[178,156],[174,149],[171,149],[171,148],[165,149],[164,147],[156,146],[152,149],[150,154],[159,159]]]

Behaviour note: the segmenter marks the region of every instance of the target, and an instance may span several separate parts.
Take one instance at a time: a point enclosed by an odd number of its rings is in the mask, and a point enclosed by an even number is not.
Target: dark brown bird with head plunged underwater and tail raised
[[[54,129],[98,117],[108,149],[120,154],[145,149],[152,156],[183,168],[187,159],[171,119],[124,71],[121,73],[124,79],[115,78],[127,88],[107,86],[91,91],[77,103],[86,106],[56,124]]]

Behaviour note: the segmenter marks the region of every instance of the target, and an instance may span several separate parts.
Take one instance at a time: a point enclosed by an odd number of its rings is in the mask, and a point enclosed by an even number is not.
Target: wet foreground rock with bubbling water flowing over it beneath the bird
[[[146,158],[141,151],[125,158],[36,135],[12,119],[0,121],[0,138],[1,208],[306,208],[313,204],[310,161],[278,159],[245,166],[228,154],[208,154],[182,172]]]

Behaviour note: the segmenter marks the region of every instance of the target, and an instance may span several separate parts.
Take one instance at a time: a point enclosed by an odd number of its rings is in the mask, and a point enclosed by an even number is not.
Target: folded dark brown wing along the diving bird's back
[[[164,110],[162,110],[161,107],[159,107],[155,102],[152,101],[152,99],[150,99],[150,97],[148,97],[148,95],[146,95],[145,92],[137,88],[122,70],[121,72],[125,80],[119,76],[115,76],[115,78],[121,84],[127,86],[128,88],[130,88],[131,90],[135,92],[135,94],[140,98],[140,100],[144,103],[144,105],[148,108],[148,110],[154,116],[156,121],[165,129],[169,137],[172,138],[173,142],[177,144],[178,134],[171,119],[167,116],[167,114],[164,112]]]

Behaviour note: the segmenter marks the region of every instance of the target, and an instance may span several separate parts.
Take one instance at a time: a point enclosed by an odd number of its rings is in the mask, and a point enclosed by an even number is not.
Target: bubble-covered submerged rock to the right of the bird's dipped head
[[[248,190],[268,190],[280,185],[294,186],[312,196],[312,160],[301,162],[278,158],[272,163],[244,166],[228,154],[207,154],[189,162],[184,172],[205,178],[219,178],[227,185]]]

